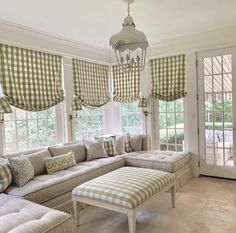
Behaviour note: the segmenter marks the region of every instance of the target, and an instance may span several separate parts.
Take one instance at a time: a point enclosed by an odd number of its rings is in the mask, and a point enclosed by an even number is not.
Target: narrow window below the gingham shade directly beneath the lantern
[[[138,107],[138,101],[122,103],[120,105],[120,113],[122,133],[142,132],[142,112]]]

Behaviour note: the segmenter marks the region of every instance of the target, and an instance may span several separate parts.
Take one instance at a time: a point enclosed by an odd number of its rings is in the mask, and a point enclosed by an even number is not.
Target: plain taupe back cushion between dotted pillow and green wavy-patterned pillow
[[[28,159],[34,167],[34,175],[43,175],[46,173],[45,158],[50,158],[51,154],[48,149],[27,155]]]

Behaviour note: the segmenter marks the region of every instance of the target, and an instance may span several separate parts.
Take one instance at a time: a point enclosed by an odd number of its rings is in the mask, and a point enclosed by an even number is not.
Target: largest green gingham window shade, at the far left
[[[0,44],[0,83],[11,105],[27,111],[48,109],[64,98],[62,58]]]

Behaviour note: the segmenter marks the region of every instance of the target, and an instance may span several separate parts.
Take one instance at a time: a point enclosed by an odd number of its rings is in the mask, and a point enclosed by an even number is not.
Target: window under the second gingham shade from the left
[[[94,139],[104,131],[103,107],[78,111],[75,123],[76,140]]]

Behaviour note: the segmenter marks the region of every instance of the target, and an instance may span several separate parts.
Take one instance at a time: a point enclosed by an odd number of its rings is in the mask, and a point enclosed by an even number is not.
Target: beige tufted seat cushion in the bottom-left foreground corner
[[[71,233],[69,214],[9,195],[0,195],[0,232]]]

